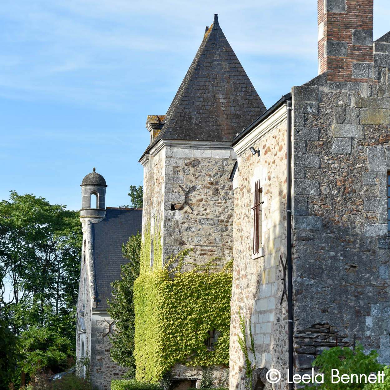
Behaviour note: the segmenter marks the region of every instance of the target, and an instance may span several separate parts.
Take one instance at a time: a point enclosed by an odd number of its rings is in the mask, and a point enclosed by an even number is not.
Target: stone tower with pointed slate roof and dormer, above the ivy
[[[166,115],[147,118],[143,234],[161,237],[163,261],[184,248],[232,257],[230,142],[265,109],[215,15]]]

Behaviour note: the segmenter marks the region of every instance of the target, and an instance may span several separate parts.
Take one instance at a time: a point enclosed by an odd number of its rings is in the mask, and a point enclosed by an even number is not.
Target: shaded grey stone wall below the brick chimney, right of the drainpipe
[[[390,362],[390,85],[388,69],[376,73],[371,83],[323,74],[292,90],[297,370],[354,334]]]

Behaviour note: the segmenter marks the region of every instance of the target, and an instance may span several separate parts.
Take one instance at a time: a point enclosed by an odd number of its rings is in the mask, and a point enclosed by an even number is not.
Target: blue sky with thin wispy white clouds
[[[96,167],[106,206],[129,203],[146,117],[167,111],[215,13],[267,108],[317,75],[315,0],[2,0],[0,199],[79,209]],[[374,39],[389,16],[374,0]]]

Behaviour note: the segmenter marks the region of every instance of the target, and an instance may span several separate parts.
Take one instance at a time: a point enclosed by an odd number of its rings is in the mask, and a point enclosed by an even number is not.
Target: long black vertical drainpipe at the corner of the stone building
[[[287,301],[289,310],[289,390],[294,389],[294,350],[293,350],[293,264],[291,259],[291,98],[287,106]]]

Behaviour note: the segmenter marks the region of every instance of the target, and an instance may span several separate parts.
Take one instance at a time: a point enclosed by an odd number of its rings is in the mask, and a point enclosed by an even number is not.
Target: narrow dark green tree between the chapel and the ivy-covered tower
[[[142,235],[131,236],[126,245],[122,245],[123,256],[129,259],[121,266],[121,280],[113,282],[112,301],[108,302],[108,313],[115,319],[116,333],[111,339],[111,358],[124,367],[128,367],[127,377],[135,376],[134,351],[134,281],[140,274],[140,251]]]

